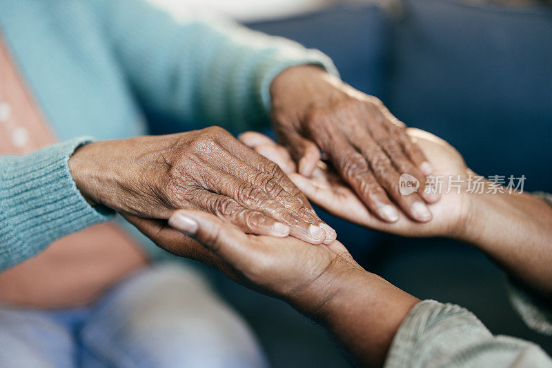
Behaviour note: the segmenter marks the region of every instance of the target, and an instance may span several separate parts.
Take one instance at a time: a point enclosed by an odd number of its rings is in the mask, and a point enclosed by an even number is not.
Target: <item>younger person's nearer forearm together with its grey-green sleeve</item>
[[[317,320],[360,367],[551,367],[537,345],[493,336],[470,311],[435,300],[420,302],[359,268],[317,280],[315,307],[293,303]],[[318,292],[316,292],[318,290]]]

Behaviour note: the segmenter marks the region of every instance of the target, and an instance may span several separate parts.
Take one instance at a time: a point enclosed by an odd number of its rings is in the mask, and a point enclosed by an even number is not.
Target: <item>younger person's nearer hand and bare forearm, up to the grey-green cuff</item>
[[[286,301],[326,327],[362,366],[382,365],[395,331],[417,298],[366,272],[335,241],[248,235],[211,214],[179,210],[165,221],[126,215],[159,247],[206,263]]]

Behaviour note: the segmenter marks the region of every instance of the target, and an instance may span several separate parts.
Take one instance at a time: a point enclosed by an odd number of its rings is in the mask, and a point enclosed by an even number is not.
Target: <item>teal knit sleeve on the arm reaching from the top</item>
[[[177,17],[144,0],[95,0],[142,104],[184,121],[242,130],[268,121],[273,78],[291,65],[337,74],[331,59],[227,19]]]

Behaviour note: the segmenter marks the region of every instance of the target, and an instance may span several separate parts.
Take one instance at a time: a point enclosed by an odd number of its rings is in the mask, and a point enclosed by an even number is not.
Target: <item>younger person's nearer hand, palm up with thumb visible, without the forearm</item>
[[[311,293],[313,282],[332,264],[344,262],[360,269],[339,241],[312,245],[292,237],[249,235],[210,214],[197,212],[195,215],[196,219],[204,218],[208,224],[199,242],[210,246],[201,245],[167,225],[166,221],[123,216],[166,251],[199,260],[237,283],[279,298]],[[217,247],[215,243],[224,243],[224,246]]]

